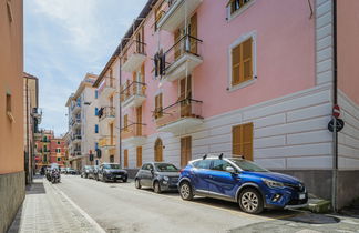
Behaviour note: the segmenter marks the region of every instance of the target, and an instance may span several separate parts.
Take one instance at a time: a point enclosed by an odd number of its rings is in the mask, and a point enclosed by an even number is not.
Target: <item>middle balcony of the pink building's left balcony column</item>
[[[140,107],[142,102],[146,99],[145,90],[146,84],[136,81],[133,81],[127,87],[126,84],[122,85],[120,91],[122,107],[124,109]]]

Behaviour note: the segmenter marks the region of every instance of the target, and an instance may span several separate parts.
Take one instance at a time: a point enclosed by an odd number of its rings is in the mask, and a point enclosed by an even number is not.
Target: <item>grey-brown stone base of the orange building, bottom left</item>
[[[25,194],[24,172],[0,174],[0,232],[11,225]]]

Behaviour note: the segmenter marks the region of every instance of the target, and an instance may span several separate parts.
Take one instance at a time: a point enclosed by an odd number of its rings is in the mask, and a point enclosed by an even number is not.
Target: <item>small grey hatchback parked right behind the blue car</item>
[[[135,176],[135,188],[148,186],[155,193],[177,190],[180,170],[171,163],[145,163]]]

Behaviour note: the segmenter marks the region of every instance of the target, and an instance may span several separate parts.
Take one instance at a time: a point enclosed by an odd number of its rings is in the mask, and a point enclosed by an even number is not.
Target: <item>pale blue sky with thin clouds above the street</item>
[[[103,70],[145,2],[24,0],[24,71],[39,78],[40,128],[68,131],[68,98]]]

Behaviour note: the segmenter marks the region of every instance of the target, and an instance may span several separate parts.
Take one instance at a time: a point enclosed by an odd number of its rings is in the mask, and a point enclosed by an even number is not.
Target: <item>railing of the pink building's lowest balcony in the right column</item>
[[[160,130],[160,128],[173,124],[173,123],[180,123],[180,126],[187,126],[193,125],[193,123],[201,123],[203,120],[202,116],[202,101],[198,100],[192,100],[192,99],[184,99],[180,100],[174,104],[171,104],[164,109],[158,109],[154,111],[154,119],[156,122],[156,126]],[[192,119],[195,121],[184,122],[184,125],[181,125],[182,120]]]

